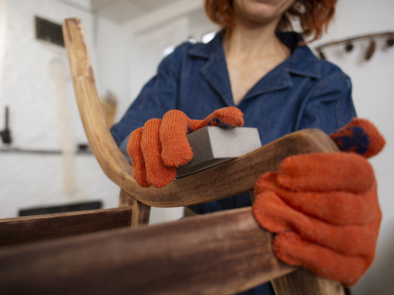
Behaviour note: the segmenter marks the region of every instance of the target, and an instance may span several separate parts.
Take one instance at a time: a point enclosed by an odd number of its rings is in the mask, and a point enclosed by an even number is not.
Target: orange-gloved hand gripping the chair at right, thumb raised
[[[254,215],[277,233],[276,256],[293,266],[354,285],[372,263],[382,213],[366,157],[384,146],[367,120],[355,118],[330,137],[347,151],[290,156],[256,182]]]

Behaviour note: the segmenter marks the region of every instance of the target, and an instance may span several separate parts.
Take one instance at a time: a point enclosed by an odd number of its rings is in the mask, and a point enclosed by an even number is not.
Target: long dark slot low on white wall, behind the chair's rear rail
[[[88,202],[88,203],[76,203],[68,204],[56,207],[41,207],[41,208],[31,208],[19,210],[19,216],[31,216],[31,215],[42,215],[42,214],[53,214],[53,213],[63,213],[63,212],[73,212],[73,211],[83,211],[83,210],[95,210],[101,209],[102,202]]]

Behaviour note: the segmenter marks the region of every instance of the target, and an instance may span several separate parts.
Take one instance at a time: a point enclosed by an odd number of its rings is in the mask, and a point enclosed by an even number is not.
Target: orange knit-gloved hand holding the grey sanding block
[[[164,114],[163,120],[150,119],[142,128],[131,132],[127,153],[137,183],[142,187],[163,187],[174,180],[176,167],[193,158],[186,134],[207,125],[240,127],[243,114],[235,107],[227,107],[204,120],[192,120],[181,111],[171,110]]]

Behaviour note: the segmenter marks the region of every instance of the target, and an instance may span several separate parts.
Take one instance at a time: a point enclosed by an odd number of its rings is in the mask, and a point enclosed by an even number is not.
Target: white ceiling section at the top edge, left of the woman
[[[92,0],[92,9],[100,16],[123,24],[176,0]]]

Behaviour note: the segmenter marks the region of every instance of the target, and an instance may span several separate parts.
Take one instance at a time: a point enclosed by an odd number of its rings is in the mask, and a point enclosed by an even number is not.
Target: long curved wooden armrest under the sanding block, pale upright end
[[[289,155],[338,150],[324,132],[305,129],[222,165],[176,179],[163,188],[142,188],[132,177],[131,165],[108,130],[80,21],[67,19],[63,25],[63,35],[89,146],[104,173],[143,204],[180,207],[234,196],[253,189],[258,177],[267,171],[276,170],[279,163]]]

